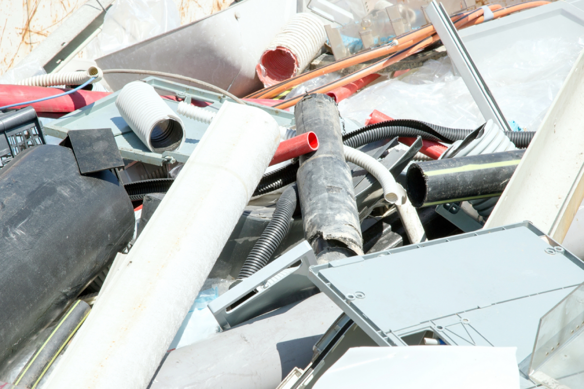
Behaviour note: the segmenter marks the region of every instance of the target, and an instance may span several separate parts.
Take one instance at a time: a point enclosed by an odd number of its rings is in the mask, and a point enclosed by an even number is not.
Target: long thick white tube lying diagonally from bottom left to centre
[[[265,111],[223,104],[46,388],[148,386],[279,140]]]

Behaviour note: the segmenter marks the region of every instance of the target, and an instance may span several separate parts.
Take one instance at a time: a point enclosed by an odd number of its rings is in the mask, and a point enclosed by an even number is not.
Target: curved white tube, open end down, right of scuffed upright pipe
[[[385,198],[385,201],[390,204],[404,202],[404,199],[407,197],[404,188],[395,182],[394,176],[392,176],[390,171],[383,166],[381,162],[374,157],[349,146],[343,146],[343,150],[345,151],[345,160],[347,162],[352,162],[369,171],[369,173],[379,181],[381,188],[383,188],[383,197]]]

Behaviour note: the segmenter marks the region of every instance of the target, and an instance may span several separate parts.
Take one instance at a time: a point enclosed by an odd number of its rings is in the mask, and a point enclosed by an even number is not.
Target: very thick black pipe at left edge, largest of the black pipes
[[[23,150],[0,170],[0,361],[55,320],[123,250],[134,210],[109,170],[82,176],[71,149]]]

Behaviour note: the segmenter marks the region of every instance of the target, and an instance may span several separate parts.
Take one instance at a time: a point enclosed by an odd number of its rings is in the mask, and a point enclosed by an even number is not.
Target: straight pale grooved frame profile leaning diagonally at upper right
[[[505,120],[505,116],[503,116],[503,113],[497,105],[491,90],[486,85],[477,66],[464,47],[458,31],[454,27],[442,3],[440,5],[436,1],[430,3],[426,8],[426,15],[432,22],[434,29],[436,29],[440,40],[442,40],[444,47],[446,47],[449,57],[463,78],[465,85],[471,93],[472,99],[477,103],[485,120],[492,119],[503,131],[511,131],[509,123]]]

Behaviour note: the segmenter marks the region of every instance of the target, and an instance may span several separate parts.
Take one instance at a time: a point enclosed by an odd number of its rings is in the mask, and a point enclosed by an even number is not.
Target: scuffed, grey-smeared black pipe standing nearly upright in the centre
[[[318,136],[317,151],[300,156],[297,173],[304,237],[319,263],[363,254],[359,212],[345,162],[339,110],[326,94],[309,94],[294,108],[298,135]]]

